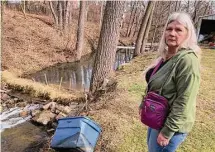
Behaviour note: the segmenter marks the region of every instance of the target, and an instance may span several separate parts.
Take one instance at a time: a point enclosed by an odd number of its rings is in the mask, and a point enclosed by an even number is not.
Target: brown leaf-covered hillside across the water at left
[[[2,21],[2,70],[27,74],[74,60],[76,20],[64,34],[54,28],[52,18],[47,16],[26,14],[25,18],[21,12],[5,10]],[[98,38],[97,26],[87,22],[82,55],[92,51],[91,43]],[[68,40],[70,50],[65,50]]]

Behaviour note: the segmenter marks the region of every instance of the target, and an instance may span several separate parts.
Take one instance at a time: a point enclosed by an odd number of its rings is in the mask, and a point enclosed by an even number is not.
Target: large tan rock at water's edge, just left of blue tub
[[[47,125],[55,118],[56,114],[50,111],[42,111],[41,113],[37,114],[36,117],[33,118],[34,121],[41,123],[43,125]]]

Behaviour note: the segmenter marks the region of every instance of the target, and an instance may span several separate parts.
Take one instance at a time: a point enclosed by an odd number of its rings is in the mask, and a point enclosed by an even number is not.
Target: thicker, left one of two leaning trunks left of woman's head
[[[154,3],[155,3],[155,1],[149,1],[148,2],[145,16],[143,17],[142,24],[141,24],[141,27],[140,27],[140,30],[139,30],[139,33],[137,36],[134,56],[139,56],[141,54],[141,46],[142,46],[143,36],[144,36],[145,31],[146,31],[147,22],[149,20],[149,16],[150,16],[150,13],[151,13],[151,10],[152,10]]]

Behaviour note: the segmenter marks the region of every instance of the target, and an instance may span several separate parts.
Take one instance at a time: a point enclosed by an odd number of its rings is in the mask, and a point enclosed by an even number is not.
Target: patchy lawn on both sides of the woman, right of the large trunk
[[[118,89],[113,99],[93,115],[103,128],[97,151],[146,152],[147,127],[139,120],[138,106],[146,83],[142,77],[145,67],[155,55],[134,59],[117,72]],[[178,152],[215,151],[215,51],[203,50],[201,86],[197,100],[196,122]],[[107,114],[108,112],[108,114]],[[111,128],[111,129],[110,129]],[[105,146],[104,146],[105,143]],[[105,148],[101,148],[101,147]]]

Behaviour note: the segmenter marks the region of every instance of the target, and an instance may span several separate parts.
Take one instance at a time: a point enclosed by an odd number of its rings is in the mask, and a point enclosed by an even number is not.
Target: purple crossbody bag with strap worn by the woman
[[[154,68],[150,78],[158,70],[161,63],[162,60]],[[160,130],[163,127],[169,112],[168,100],[160,95],[161,91],[162,87],[159,91],[159,94],[153,91],[149,91],[147,93],[147,95],[143,98],[143,106],[141,113],[141,122],[149,126],[150,128],[156,130]]]

